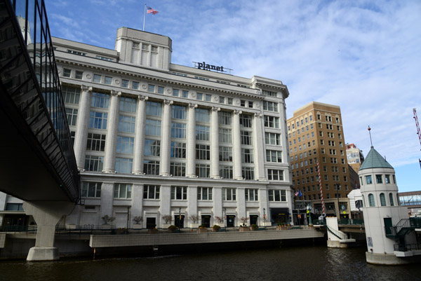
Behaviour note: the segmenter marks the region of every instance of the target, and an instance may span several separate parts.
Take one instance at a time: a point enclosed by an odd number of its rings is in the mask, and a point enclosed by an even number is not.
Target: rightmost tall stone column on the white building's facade
[[[255,179],[265,180],[265,136],[262,132],[262,114],[255,113],[253,118],[253,149],[255,161]]]

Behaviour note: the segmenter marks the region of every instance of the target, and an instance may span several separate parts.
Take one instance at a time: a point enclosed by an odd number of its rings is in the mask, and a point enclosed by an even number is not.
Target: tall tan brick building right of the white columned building
[[[347,194],[354,185],[349,176],[340,107],[310,102],[294,111],[287,128],[293,186],[302,192],[299,200],[295,196],[295,208],[303,209],[311,203],[315,214],[321,212],[319,161],[326,214],[333,215],[340,208],[341,217],[348,218]],[[343,198],[343,203],[336,198]]]

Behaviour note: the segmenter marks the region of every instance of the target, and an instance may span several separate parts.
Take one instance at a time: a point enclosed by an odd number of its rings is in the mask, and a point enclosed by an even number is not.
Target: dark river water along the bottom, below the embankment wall
[[[421,280],[420,264],[375,266],[365,247],[283,247],[138,258],[0,261],[0,280]]]

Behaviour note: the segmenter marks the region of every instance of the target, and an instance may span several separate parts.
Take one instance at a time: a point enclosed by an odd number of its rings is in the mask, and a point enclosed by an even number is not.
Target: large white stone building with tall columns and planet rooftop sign
[[[53,38],[81,201],[65,225],[289,222],[288,88],[171,64],[167,36],[122,27],[116,50]],[[195,58],[192,58],[194,60]],[[6,196],[4,196],[6,197]],[[3,198],[3,197],[0,197]],[[6,199],[5,199],[6,200]],[[181,218],[181,220],[180,220]]]

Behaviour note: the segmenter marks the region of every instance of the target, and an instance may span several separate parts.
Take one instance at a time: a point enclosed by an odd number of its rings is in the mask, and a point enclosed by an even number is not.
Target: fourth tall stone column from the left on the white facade
[[[163,177],[168,177],[170,175],[171,104],[173,104],[172,100],[163,100],[161,127],[161,163],[159,163],[159,174]]]

